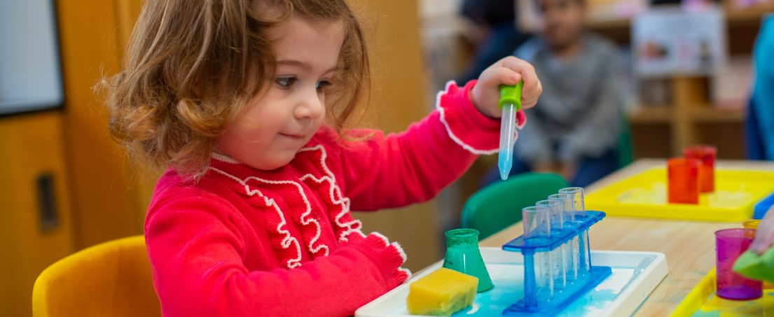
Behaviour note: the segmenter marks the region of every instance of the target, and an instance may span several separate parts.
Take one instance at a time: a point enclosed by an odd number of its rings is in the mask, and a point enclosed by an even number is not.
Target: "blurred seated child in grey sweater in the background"
[[[615,46],[585,32],[585,0],[535,1],[539,36],[515,56],[535,66],[545,94],[519,135],[512,175],[559,172],[573,186],[587,186],[618,166],[625,101],[616,83]],[[485,183],[498,178],[493,170]]]

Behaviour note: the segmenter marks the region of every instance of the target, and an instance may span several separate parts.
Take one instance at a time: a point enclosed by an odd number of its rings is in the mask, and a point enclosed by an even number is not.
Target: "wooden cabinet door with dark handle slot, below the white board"
[[[0,118],[0,315],[31,315],[40,271],[74,251],[60,111]]]

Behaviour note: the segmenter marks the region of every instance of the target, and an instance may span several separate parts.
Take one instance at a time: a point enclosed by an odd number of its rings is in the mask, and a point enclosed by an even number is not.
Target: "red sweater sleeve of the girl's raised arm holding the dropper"
[[[481,154],[497,152],[500,121],[486,117],[464,87],[450,82],[438,94],[437,109],[406,131],[352,131],[370,135],[344,141],[341,150],[345,195],[352,210],[379,210],[420,203],[459,178]],[[520,125],[526,120],[519,113]]]

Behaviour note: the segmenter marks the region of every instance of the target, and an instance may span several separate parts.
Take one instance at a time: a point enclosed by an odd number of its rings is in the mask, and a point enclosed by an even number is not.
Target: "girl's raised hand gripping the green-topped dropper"
[[[489,118],[500,118],[500,85],[512,86],[522,80],[522,109],[535,107],[537,98],[543,94],[543,85],[537,79],[535,68],[514,56],[498,60],[481,73],[478,83],[471,90],[471,101],[482,114]]]

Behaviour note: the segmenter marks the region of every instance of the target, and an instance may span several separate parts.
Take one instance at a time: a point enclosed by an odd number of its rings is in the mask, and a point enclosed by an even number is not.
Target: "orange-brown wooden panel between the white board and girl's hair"
[[[145,207],[133,192],[133,169],[108,134],[108,111],[92,90],[119,69],[128,7],[119,1],[57,1],[67,92],[64,142],[79,249],[142,233]]]

